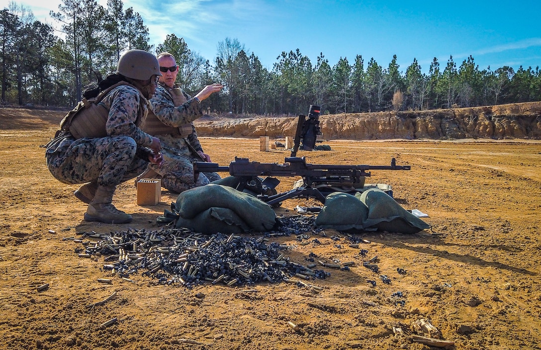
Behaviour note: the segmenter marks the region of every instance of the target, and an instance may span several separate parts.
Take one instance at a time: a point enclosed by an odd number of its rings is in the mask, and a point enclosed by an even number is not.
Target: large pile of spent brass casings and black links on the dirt
[[[104,256],[103,269],[123,279],[143,275],[158,283],[191,288],[201,283],[228,286],[257,282],[289,281],[292,276],[325,278],[328,273],[290,262],[282,252],[287,245],[269,242],[270,237],[314,232],[309,217],[279,218],[278,230],[259,236],[216,233],[203,235],[185,228],[129,229],[122,232],[83,235],[81,257]],[[313,266],[311,266],[313,268]]]

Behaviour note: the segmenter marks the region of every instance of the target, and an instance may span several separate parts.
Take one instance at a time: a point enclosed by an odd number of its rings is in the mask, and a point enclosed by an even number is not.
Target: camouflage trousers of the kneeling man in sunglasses
[[[161,167],[150,164],[150,168],[162,175],[162,186],[174,193],[181,193],[190,188],[204,186],[212,181],[220,180],[216,173],[200,173],[194,180],[194,166],[188,158],[167,159]]]

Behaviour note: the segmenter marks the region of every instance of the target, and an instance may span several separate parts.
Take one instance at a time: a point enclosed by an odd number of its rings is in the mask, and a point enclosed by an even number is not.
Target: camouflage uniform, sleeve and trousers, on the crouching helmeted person
[[[140,95],[121,85],[100,102],[109,110],[107,137],[75,137],[67,133],[48,144],[45,157],[51,174],[63,183],[96,182],[116,186],[146,169],[148,159],[136,156],[137,147],[150,146],[152,138],[136,126]]]

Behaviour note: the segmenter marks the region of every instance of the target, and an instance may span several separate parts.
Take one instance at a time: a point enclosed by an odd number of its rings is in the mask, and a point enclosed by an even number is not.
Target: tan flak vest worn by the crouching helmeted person
[[[83,100],[77,103],[76,107],[69,111],[62,119],[60,122],[60,130],[69,130],[71,135],[75,138],[107,136],[105,124],[109,118],[109,110],[100,102],[111,90],[120,85],[128,85],[137,89],[134,85],[122,81],[101,91],[96,97],[89,98],[88,100],[87,98],[83,98]],[[147,107],[148,100],[141,94],[139,94],[139,98],[137,119],[135,120],[135,125],[137,127],[141,124],[141,120],[144,119],[149,110]]]

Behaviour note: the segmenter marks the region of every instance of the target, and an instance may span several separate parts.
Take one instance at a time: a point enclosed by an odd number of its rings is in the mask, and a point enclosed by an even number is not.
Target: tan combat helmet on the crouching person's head
[[[120,56],[116,72],[137,80],[148,80],[153,75],[162,75],[157,58],[150,52],[137,49],[128,50]]]

